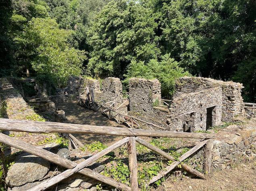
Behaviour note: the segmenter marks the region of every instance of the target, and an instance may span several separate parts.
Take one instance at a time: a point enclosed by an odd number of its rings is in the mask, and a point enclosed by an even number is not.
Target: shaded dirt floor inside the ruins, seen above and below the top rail
[[[56,106],[58,109],[65,111],[68,123],[124,127],[114,121],[109,120],[106,116],[103,116],[100,111],[94,112],[92,110],[82,108],[81,106],[77,105],[76,101],[57,103]],[[100,141],[106,145],[111,145],[114,142],[117,142],[118,140],[123,138],[122,136],[111,135],[73,135],[78,138],[83,144]]]

